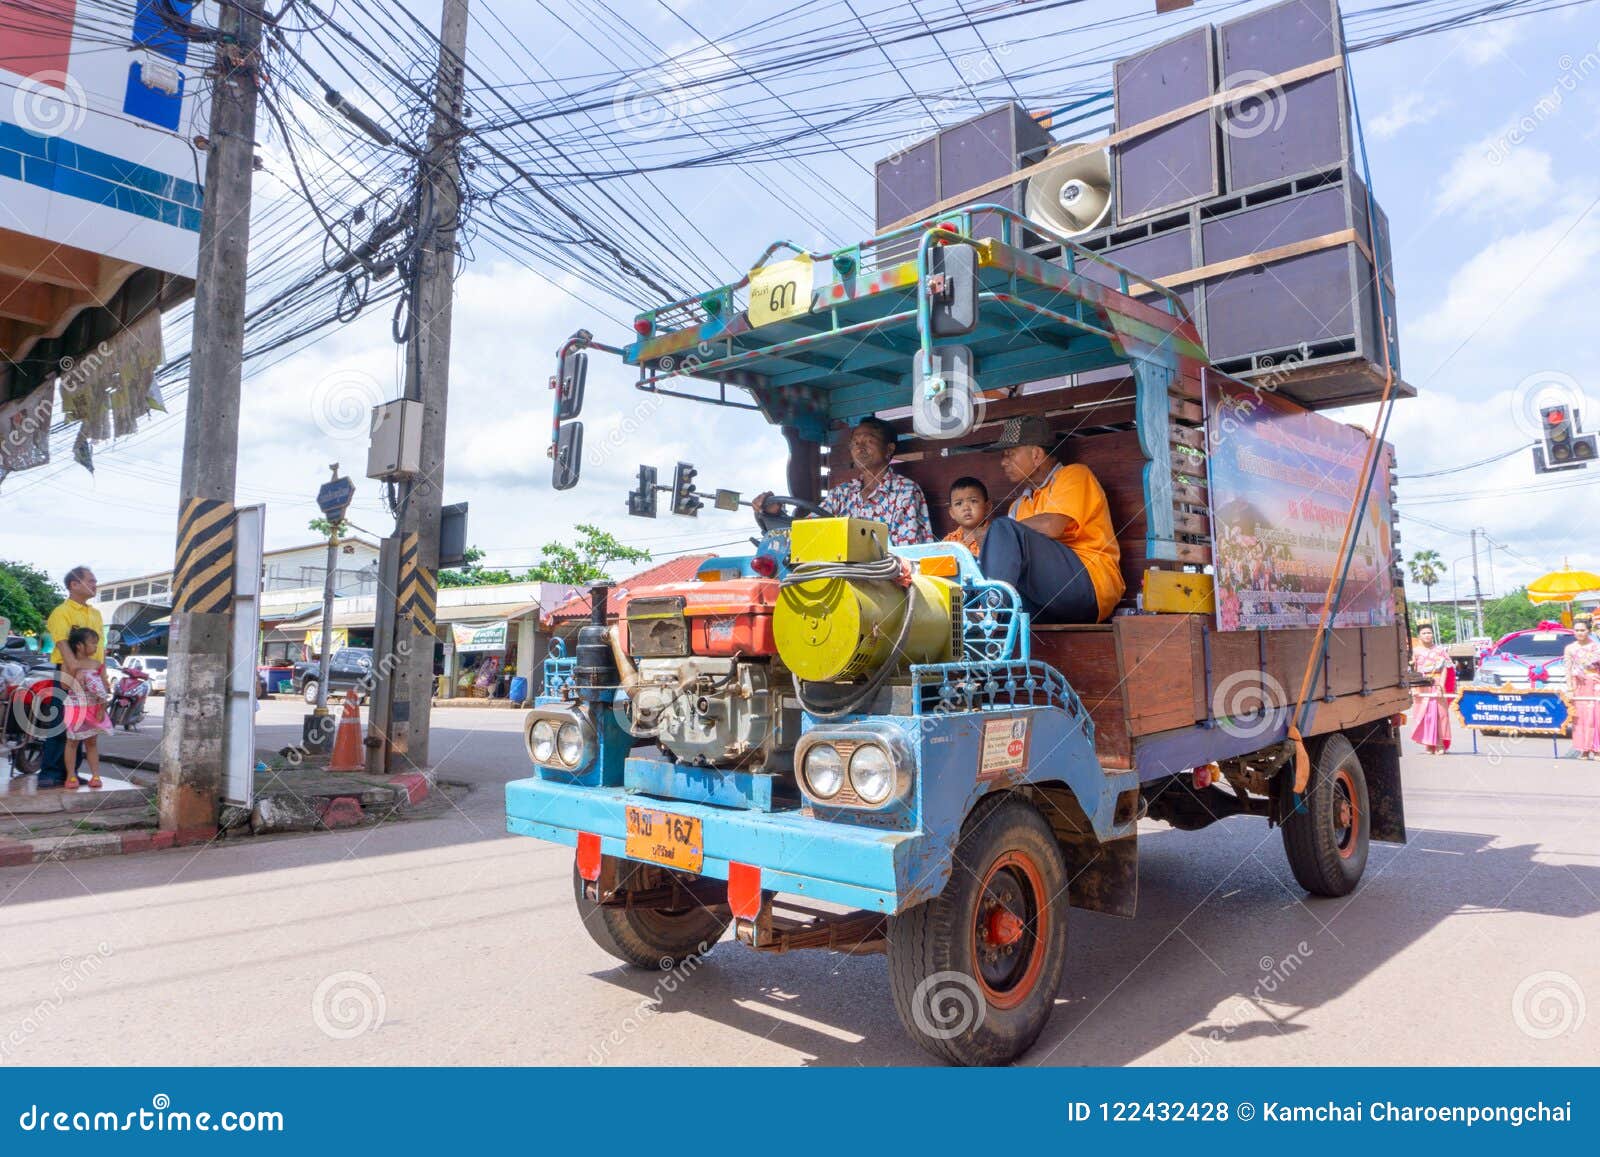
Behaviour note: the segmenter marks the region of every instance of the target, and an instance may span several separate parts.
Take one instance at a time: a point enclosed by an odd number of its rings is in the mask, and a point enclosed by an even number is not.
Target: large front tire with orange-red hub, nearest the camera
[[[906,1032],[950,1064],[1008,1064],[1038,1039],[1067,959],[1067,867],[1026,800],[982,802],[936,898],[890,917]],[[982,941],[982,944],[981,944]]]

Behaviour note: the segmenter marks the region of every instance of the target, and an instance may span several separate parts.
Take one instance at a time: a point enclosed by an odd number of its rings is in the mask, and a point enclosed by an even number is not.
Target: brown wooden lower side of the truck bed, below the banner
[[[1034,658],[1061,671],[1083,699],[1106,768],[1158,778],[1280,739],[1315,635],[1309,627],[1218,631],[1205,615],[1123,615],[1096,626],[1034,627]],[[1306,735],[1410,706],[1403,627],[1336,627],[1330,635]],[[1266,714],[1254,714],[1261,707]],[[1219,723],[1229,714],[1237,727]]]

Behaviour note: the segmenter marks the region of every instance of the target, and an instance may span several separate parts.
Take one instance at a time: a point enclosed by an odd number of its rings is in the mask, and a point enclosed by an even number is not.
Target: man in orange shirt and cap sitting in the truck
[[[1013,418],[990,446],[1006,478],[1024,486],[989,523],[984,574],[1016,587],[1035,623],[1099,623],[1122,599],[1122,550],[1093,470],[1054,458],[1043,418]]]

